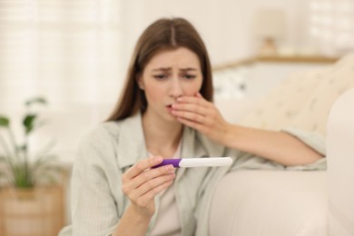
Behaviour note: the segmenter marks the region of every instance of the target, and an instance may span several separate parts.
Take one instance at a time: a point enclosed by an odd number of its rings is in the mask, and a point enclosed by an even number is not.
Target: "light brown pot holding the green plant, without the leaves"
[[[0,191],[0,235],[56,236],[63,226],[62,186]]]

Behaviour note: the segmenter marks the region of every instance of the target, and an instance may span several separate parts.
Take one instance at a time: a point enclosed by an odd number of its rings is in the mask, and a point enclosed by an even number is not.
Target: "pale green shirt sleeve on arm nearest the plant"
[[[114,172],[114,152],[104,132],[89,134],[79,145],[72,176],[73,235],[111,235],[119,221],[118,205],[112,185],[121,188],[119,176],[110,183]],[[118,173],[117,173],[118,174]],[[114,178],[113,178],[114,179]]]

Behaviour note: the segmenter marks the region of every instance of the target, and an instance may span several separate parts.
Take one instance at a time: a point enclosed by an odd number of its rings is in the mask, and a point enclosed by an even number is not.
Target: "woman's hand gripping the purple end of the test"
[[[123,192],[135,211],[143,217],[152,217],[155,212],[154,197],[173,182],[175,174],[172,165],[152,168],[162,160],[162,156],[152,156],[135,163],[123,173]]]

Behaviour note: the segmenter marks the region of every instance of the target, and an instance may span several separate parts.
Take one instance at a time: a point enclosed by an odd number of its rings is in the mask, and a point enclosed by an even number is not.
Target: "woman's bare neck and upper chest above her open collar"
[[[172,157],[182,137],[182,123],[163,123],[143,116],[143,133],[148,152]]]

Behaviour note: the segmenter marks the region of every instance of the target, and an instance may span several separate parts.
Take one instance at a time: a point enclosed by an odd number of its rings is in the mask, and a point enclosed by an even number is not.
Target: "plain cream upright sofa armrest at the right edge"
[[[329,235],[350,236],[354,235],[354,89],[332,106],[327,133]]]

